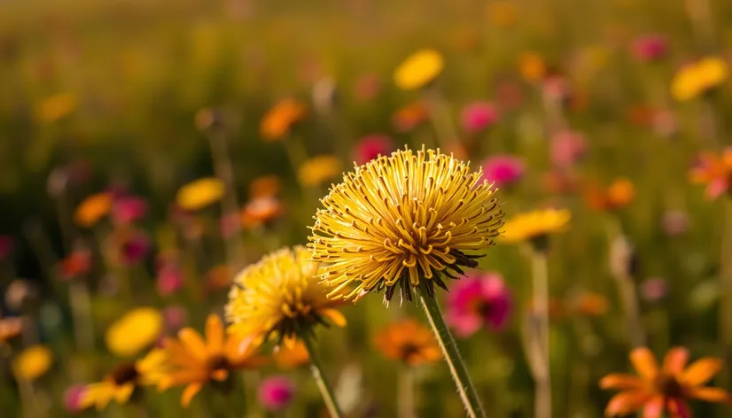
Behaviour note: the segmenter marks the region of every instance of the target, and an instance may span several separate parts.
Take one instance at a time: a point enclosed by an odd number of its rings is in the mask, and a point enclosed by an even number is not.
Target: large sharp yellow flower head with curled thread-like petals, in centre
[[[344,175],[321,200],[309,247],[335,286],[331,298],[358,298],[411,288],[434,296],[447,290],[442,275],[456,278],[477,267],[502,227],[494,190],[460,160],[440,151],[395,151]],[[352,286],[354,285],[354,286]],[[356,298],[357,299],[357,298]]]

